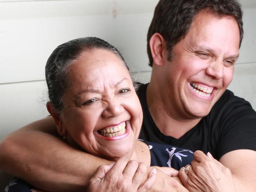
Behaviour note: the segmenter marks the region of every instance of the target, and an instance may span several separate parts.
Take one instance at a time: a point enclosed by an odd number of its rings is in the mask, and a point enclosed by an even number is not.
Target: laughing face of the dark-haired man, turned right
[[[168,113],[196,119],[210,112],[232,81],[239,38],[233,17],[206,11],[196,15],[188,34],[174,46],[172,60],[164,57],[160,95]]]

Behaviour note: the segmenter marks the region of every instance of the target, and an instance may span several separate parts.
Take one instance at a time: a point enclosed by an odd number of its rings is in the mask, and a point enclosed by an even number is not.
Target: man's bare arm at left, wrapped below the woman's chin
[[[0,169],[43,190],[84,191],[97,167],[110,162],[70,147],[55,133],[51,117],[13,132],[0,143]]]

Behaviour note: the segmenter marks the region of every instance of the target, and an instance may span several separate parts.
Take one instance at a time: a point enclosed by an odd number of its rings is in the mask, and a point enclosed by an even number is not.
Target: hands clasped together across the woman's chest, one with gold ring
[[[191,166],[187,174],[182,168],[179,172],[163,167],[149,167],[147,170],[144,163],[121,157],[114,164],[99,166],[89,181],[88,191],[235,191],[230,170],[210,153],[205,155],[202,151],[195,151]]]

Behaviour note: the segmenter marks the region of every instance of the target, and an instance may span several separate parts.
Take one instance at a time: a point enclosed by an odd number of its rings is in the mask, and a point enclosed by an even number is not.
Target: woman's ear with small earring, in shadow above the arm
[[[65,128],[62,122],[62,118],[60,117],[60,114],[55,111],[54,107],[50,104],[50,102],[47,102],[46,107],[48,112],[51,114],[52,118],[55,121],[57,130],[60,136],[62,137],[67,136],[67,129]]]

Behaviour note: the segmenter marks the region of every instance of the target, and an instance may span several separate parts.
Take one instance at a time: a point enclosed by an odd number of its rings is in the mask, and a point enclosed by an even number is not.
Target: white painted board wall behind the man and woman
[[[121,49],[148,82],[146,33],[158,0],[0,0],[0,140],[48,115],[44,67],[54,48],[97,36]],[[256,109],[256,1],[241,0],[245,36],[230,89]],[[0,172],[0,190],[5,185]],[[2,185],[2,186],[1,186]]]

